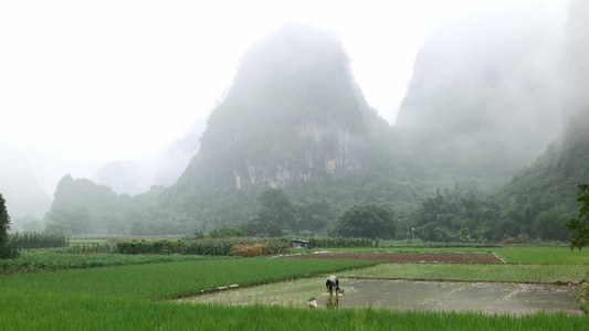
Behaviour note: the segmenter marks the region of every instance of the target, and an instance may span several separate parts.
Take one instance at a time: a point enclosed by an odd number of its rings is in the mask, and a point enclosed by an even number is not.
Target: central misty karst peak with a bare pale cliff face
[[[367,105],[348,61],[337,38],[309,25],[254,44],[164,206],[204,226],[246,221],[269,188],[337,213],[357,202],[412,203],[412,182],[428,171]]]

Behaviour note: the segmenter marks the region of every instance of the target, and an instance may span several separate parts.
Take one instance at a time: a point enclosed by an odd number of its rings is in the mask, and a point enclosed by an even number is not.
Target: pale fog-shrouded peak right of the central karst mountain
[[[560,46],[539,6],[441,26],[419,50],[395,128],[451,178],[506,181],[561,131]]]

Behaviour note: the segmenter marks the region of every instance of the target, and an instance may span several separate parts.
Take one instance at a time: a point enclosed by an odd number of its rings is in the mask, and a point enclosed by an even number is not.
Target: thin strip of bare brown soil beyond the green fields
[[[305,253],[282,256],[282,258],[344,258],[374,259],[393,263],[457,263],[457,264],[501,264],[503,260],[493,253],[355,253],[329,252]]]

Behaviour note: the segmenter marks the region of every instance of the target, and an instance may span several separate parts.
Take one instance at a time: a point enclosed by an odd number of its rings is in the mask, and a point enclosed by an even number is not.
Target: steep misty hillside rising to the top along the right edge
[[[562,56],[565,131],[501,191],[506,203],[538,205],[536,213],[578,211],[577,184],[589,182],[589,2],[572,1]]]

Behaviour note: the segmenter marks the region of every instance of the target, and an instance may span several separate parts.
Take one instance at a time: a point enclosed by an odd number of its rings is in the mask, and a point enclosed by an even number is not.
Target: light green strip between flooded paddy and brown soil
[[[530,264],[382,264],[340,273],[343,277],[465,281],[580,282],[589,266]]]

